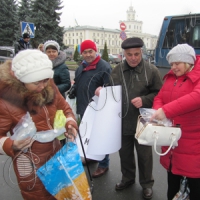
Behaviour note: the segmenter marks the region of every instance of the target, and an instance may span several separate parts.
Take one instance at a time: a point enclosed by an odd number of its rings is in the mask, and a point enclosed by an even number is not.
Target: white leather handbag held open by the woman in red
[[[154,146],[155,152],[160,155],[166,155],[172,147],[178,146],[178,140],[181,137],[179,127],[166,127],[158,123],[150,123],[143,116],[138,117],[135,138],[139,144]],[[164,153],[159,153],[156,146],[169,146]]]

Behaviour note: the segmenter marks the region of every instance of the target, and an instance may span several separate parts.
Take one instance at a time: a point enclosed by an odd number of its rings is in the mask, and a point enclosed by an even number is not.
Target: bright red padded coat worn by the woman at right
[[[170,72],[164,77],[164,85],[154,99],[153,108],[162,108],[167,118],[180,124],[182,136],[178,147],[160,162],[173,174],[200,178],[200,56],[192,71],[181,77]],[[165,152],[167,147],[162,147]]]

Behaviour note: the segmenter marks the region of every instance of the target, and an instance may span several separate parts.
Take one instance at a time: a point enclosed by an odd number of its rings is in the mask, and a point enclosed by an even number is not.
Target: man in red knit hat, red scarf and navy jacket
[[[85,40],[80,46],[83,61],[75,72],[75,83],[71,89],[70,96],[77,98],[77,114],[82,119],[84,112],[94,96],[95,90],[99,86],[109,83],[111,66],[108,62],[101,59],[97,54],[96,44],[92,40]],[[103,148],[103,147],[102,147]],[[92,161],[87,159],[88,162]],[[85,164],[85,161],[83,161]],[[99,161],[96,171],[92,174],[93,178],[102,176],[108,171],[109,155]]]

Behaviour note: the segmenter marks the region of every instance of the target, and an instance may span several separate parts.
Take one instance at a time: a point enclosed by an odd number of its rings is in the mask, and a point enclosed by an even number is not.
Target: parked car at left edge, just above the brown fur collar
[[[0,64],[10,60],[15,56],[14,47],[0,46]]]

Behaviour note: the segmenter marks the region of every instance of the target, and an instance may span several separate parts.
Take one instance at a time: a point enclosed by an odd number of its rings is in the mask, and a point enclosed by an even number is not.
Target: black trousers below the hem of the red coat
[[[172,200],[180,189],[180,181],[183,176],[172,174],[168,172],[168,191],[167,198]],[[200,178],[187,178],[190,188],[190,200],[200,199]]]

